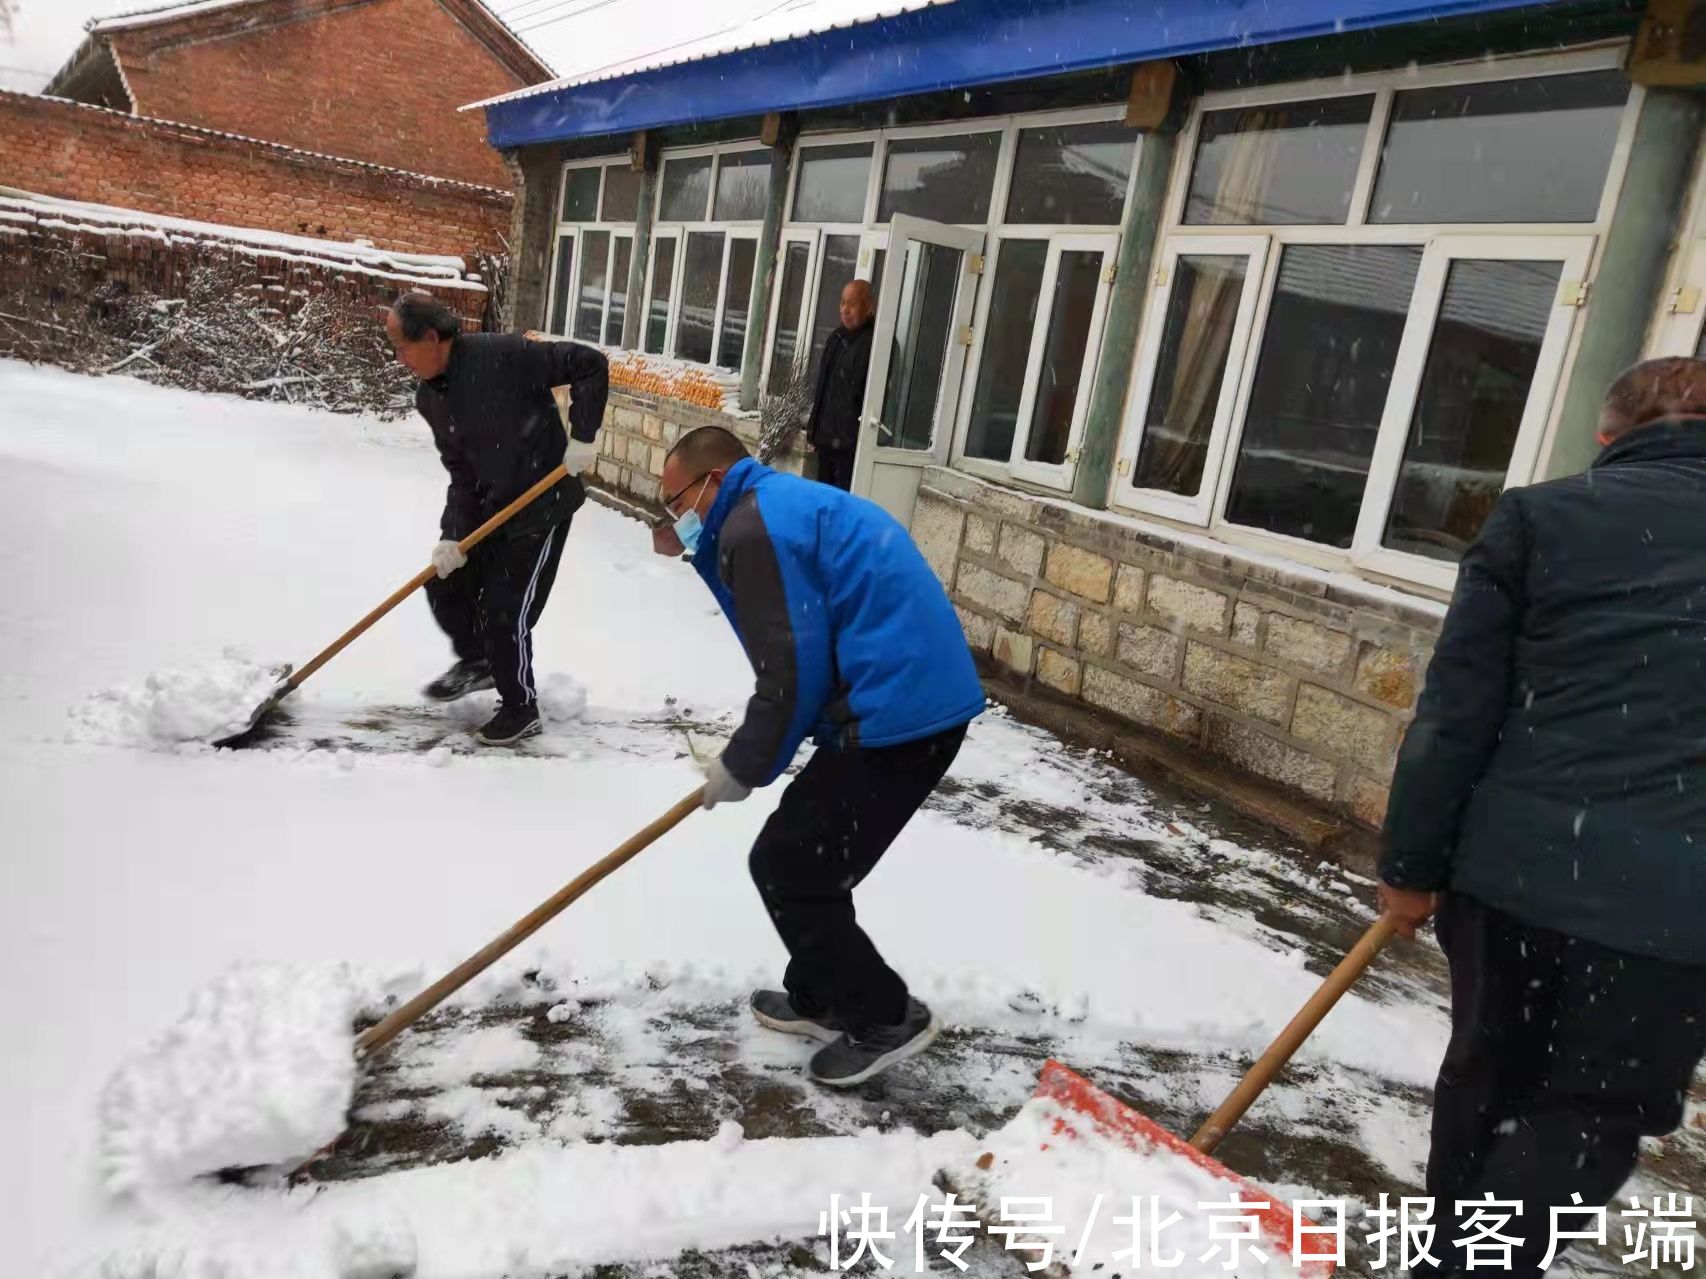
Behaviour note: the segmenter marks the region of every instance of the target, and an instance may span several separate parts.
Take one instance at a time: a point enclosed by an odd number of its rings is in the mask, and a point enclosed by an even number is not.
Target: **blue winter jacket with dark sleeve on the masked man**
[[[744,784],[775,781],[807,735],[897,745],[983,711],[954,605],[875,503],[746,459],[723,479],[693,564],[757,675],[723,750]]]

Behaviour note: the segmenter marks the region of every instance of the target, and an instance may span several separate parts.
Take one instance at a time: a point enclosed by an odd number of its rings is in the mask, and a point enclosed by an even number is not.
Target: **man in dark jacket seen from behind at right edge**
[[[1552,1211],[1588,1228],[1706,1054],[1706,362],[1631,368],[1599,438],[1464,556],[1392,783],[1382,902],[1452,969],[1445,1274],[1489,1194],[1539,1274]]]

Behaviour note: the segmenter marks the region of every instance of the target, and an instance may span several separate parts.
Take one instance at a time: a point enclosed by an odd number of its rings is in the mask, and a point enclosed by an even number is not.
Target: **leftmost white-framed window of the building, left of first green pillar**
[[[640,174],[626,160],[563,169],[546,315],[551,333],[621,346]]]

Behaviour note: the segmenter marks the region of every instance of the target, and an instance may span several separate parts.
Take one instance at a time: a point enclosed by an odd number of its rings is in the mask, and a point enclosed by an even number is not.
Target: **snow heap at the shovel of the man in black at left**
[[[72,709],[72,742],[177,745],[241,733],[271,696],[278,665],[237,650],[189,670],[157,670],[140,686],[106,689]]]

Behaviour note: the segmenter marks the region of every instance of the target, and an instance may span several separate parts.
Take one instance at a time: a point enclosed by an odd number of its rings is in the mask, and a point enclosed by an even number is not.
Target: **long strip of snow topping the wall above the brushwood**
[[[172,218],[133,208],[85,205],[77,200],[55,200],[29,193],[0,194],[0,229],[14,230],[31,223],[97,235],[147,235],[165,244],[179,240],[188,244],[217,242],[254,256],[266,254],[288,263],[309,263],[380,280],[430,283],[435,288],[462,288],[481,293],[486,290],[478,280],[467,280],[462,275],[467,264],[461,258],[447,254],[397,252],[377,249],[372,244],[317,240],[310,235],[227,227],[217,222]]]

